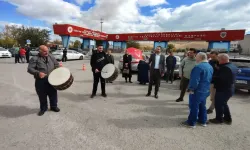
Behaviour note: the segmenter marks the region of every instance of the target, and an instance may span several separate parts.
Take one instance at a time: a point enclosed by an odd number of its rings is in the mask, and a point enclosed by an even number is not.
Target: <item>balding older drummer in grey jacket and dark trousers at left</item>
[[[55,57],[48,52],[48,47],[41,45],[38,56],[30,59],[28,73],[35,77],[35,88],[40,101],[39,116],[42,116],[48,110],[47,96],[50,100],[50,109],[59,112],[57,107],[57,90],[49,84],[48,75],[59,67]]]

